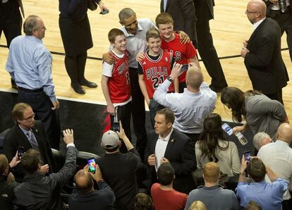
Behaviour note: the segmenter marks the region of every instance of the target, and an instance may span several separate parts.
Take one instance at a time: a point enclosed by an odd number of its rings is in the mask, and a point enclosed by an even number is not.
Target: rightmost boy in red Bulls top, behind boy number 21
[[[160,13],[156,17],[155,23],[162,36],[162,49],[170,51],[176,63],[195,63],[195,66],[200,68],[199,61],[197,60],[197,50],[193,47],[192,42],[181,44],[181,38],[174,32],[174,20],[169,13]],[[186,87],[185,75],[186,71],[178,77],[179,92],[183,92],[183,89]]]

